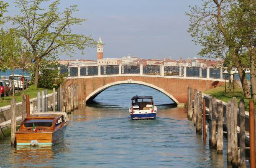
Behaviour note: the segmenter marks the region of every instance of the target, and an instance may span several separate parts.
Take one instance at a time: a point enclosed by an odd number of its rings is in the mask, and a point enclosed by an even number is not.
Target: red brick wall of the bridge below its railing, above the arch
[[[195,88],[198,91],[205,91],[216,86],[223,85],[224,82],[219,81],[208,81],[208,80],[196,80],[196,79],[174,79],[174,78],[158,78],[158,77],[92,77],[92,78],[82,78],[82,79],[67,79],[64,85],[79,84],[79,93],[81,93],[81,81],[85,82],[85,97],[96,89],[113,82],[126,81],[132,79],[132,81],[141,81],[149,84],[158,86],[169,94],[174,96],[179,103],[187,103],[187,87]],[[131,82],[132,83],[132,82]],[[79,100],[81,99],[81,94],[79,94]]]

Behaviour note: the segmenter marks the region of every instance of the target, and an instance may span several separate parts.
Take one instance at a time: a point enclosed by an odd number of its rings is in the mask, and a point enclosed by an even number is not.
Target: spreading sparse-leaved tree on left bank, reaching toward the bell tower
[[[49,9],[41,7],[48,0],[16,0],[20,8],[20,15],[7,17],[16,30],[16,35],[23,37],[31,48],[33,59],[36,61],[34,69],[34,85],[38,85],[39,68],[42,59],[58,53],[72,54],[75,49],[96,47],[97,42],[90,36],[72,33],[72,26],[81,25],[84,19],[73,17],[77,5],[67,7],[64,12],[58,11],[60,0],[49,5]],[[82,52],[83,53],[83,52]]]

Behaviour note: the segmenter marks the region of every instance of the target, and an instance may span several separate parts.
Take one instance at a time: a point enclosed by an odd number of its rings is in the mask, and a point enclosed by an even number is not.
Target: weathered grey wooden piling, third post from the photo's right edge
[[[237,111],[238,105],[236,97],[231,101],[231,151],[232,151],[232,165],[238,167],[238,138],[237,138]]]

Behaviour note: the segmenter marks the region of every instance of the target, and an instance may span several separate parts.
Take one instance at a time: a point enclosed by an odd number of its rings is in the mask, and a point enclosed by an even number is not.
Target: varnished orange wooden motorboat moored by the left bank
[[[68,124],[69,119],[64,112],[31,114],[21,121],[16,131],[16,145],[52,145],[63,139]]]

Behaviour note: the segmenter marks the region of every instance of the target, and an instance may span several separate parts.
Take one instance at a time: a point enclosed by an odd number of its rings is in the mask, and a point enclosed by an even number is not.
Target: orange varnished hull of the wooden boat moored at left
[[[36,145],[52,145],[64,138],[67,124],[54,132],[22,132],[16,133],[16,145],[31,145],[32,141],[37,141]]]

